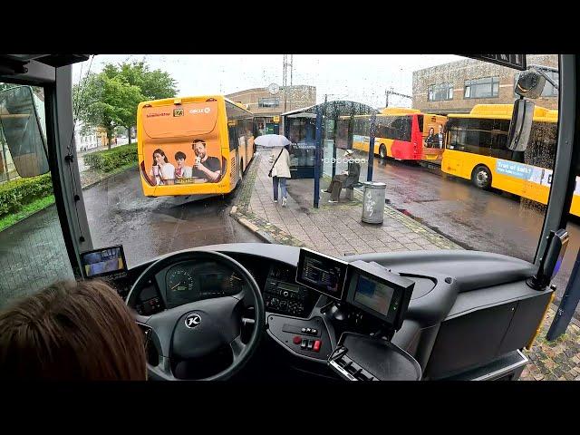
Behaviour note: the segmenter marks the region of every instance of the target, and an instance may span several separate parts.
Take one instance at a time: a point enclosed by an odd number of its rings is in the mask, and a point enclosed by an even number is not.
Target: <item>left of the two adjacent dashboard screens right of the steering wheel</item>
[[[342,299],[347,266],[346,262],[338,258],[302,248],[298,259],[296,281],[324,295]]]

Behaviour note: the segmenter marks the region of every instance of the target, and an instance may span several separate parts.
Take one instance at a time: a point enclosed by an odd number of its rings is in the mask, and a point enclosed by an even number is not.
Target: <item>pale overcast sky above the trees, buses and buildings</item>
[[[382,107],[385,89],[411,95],[413,71],[459,59],[450,54],[295,54],[293,84],[315,86],[317,102],[329,94],[329,101]],[[100,72],[105,63],[132,60],[170,73],[178,82],[179,96],[227,94],[283,83],[283,54],[102,54],[94,57],[91,72]],[[73,65],[73,82],[87,73],[90,62]],[[389,105],[411,107],[411,100],[391,96]]]

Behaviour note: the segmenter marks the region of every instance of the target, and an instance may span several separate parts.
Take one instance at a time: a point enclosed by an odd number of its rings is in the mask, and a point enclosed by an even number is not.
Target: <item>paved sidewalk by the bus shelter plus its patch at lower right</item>
[[[237,205],[230,212],[258,236],[269,243],[295,247],[311,247],[331,256],[372,252],[418,249],[462,249],[439,233],[398,210],[385,205],[382,225],[361,222],[361,195],[352,201],[329,204],[329,194],[322,194],[320,208],[313,208],[313,179],[293,179],[288,183],[288,205],[275,204],[272,198],[272,179],[267,151],[258,152],[245,176],[237,197]],[[321,189],[328,180],[321,180]],[[521,380],[580,381],[580,328],[571,324],[567,332],[555,342],[546,341],[546,333],[554,318],[549,308],[532,349],[527,352],[530,362]]]

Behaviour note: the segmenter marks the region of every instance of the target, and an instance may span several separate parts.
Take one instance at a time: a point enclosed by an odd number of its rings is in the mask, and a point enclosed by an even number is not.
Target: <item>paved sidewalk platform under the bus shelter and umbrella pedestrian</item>
[[[246,195],[242,195],[236,211],[246,215],[262,233],[275,243],[312,247],[331,256],[370,252],[461,249],[430,228],[386,208],[382,225],[361,222],[360,198],[328,204],[329,194],[322,194],[320,208],[312,208],[313,179],[293,179],[288,183],[288,205],[275,204],[272,179],[267,176],[270,163],[267,155],[257,155],[256,165],[247,177]],[[252,183],[253,180],[253,183]],[[254,184],[250,191],[250,184]],[[321,183],[326,187],[327,182]]]

